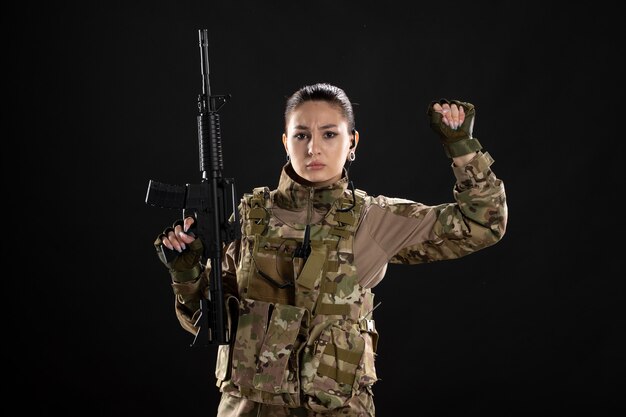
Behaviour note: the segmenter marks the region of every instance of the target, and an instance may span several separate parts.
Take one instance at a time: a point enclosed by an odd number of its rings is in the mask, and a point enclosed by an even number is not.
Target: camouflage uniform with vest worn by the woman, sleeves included
[[[390,262],[455,259],[503,237],[505,190],[492,163],[478,152],[453,166],[455,202],[435,206],[353,195],[346,175],[327,187],[302,185],[289,164],[277,189],[246,194],[242,237],[226,248],[222,265],[236,331],[218,350],[218,415],[373,416],[372,288]],[[306,225],[304,262],[294,254]],[[207,270],[173,283],[177,317],[194,334]]]

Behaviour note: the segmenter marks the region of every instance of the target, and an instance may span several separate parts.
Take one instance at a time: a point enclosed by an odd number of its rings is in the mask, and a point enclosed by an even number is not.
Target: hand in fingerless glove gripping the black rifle
[[[163,230],[154,241],[159,259],[176,282],[194,280],[202,272],[200,265],[203,252],[202,241],[184,232],[184,230],[189,230],[192,223],[192,218],[187,218],[185,221],[177,220],[172,227]]]

